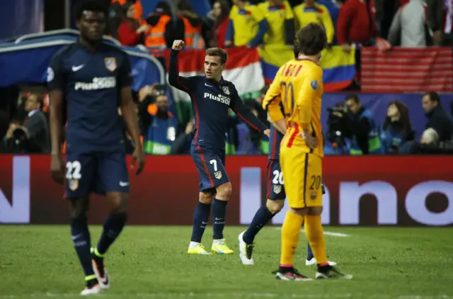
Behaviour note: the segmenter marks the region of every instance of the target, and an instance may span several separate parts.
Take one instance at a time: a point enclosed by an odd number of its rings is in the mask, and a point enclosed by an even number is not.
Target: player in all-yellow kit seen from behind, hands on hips
[[[317,262],[316,278],[331,278],[335,274],[352,278],[328,264],[321,225],[323,71],[319,60],[327,45],[326,32],[318,24],[309,23],[299,30],[296,38],[299,55],[280,67],[263,105],[273,125],[285,132],[280,146],[280,166],[289,210],[282,225],[280,268],[275,273],[282,280],[311,280],[294,269],[294,252],[304,223]]]

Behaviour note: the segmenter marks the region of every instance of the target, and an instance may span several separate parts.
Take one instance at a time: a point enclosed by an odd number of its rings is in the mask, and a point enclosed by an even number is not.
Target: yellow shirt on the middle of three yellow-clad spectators
[[[264,43],[285,45],[285,21],[294,19],[291,6],[287,0],[277,6],[269,6],[269,1],[258,4],[258,8],[268,21],[268,33],[264,35]]]

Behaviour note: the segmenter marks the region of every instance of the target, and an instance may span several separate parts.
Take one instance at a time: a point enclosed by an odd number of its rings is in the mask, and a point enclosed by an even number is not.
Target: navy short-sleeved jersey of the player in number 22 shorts
[[[126,60],[125,52],[105,43],[98,45],[95,51],[74,43],[52,58],[49,76],[55,76],[67,101],[68,151],[74,146],[84,147],[84,150],[124,146],[123,125],[117,108],[120,89],[128,85],[126,81],[130,77],[130,71],[125,70],[130,69]],[[48,79],[52,82],[52,78]]]

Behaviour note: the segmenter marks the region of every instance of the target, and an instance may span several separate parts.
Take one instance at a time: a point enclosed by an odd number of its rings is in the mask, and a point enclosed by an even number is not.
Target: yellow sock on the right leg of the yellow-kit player
[[[324,242],[321,216],[305,216],[305,233],[317,264],[326,264],[326,243]]]

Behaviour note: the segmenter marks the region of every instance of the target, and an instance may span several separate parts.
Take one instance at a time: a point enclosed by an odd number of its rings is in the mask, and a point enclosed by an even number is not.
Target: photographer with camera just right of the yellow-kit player
[[[333,111],[340,118],[341,132],[348,140],[350,154],[382,154],[379,127],[368,109],[362,106],[360,98],[350,94],[345,99],[348,113]]]

